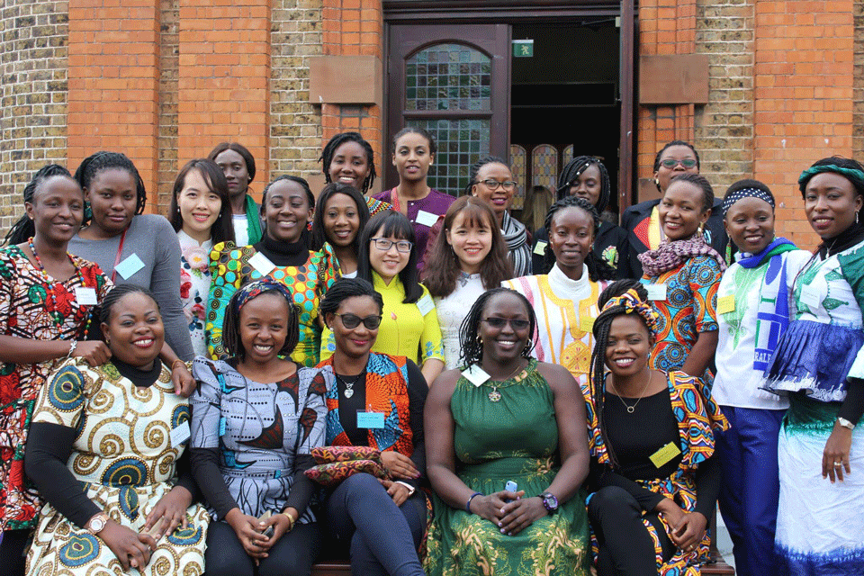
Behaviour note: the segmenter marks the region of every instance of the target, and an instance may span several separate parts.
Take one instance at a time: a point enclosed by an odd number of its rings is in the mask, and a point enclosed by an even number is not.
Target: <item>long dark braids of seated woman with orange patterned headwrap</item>
[[[610,306],[608,309],[604,309],[603,307],[612,298],[620,296],[629,290],[635,290],[642,301],[648,300],[648,291],[645,290],[644,285],[638,280],[628,278],[609,284],[606,290],[600,293],[598,298],[597,306],[601,312],[597,319],[594,320],[594,327],[592,329],[594,333],[594,350],[591,352],[589,374],[592,384],[592,400],[594,401],[594,410],[596,411],[600,436],[603,437],[603,444],[606,446],[609,462],[612,463],[613,468],[617,468],[618,463],[615,450],[609,443],[608,434],[606,433],[606,421],[603,419],[603,400],[606,392],[606,349],[608,347],[609,330],[612,328],[612,321],[618,316],[626,314],[627,310],[622,305]],[[638,314],[635,316],[638,316]],[[645,325],[645,329],[648,329],[647,325]],[[650,329],[648,329],[648,333],[651,334]]]

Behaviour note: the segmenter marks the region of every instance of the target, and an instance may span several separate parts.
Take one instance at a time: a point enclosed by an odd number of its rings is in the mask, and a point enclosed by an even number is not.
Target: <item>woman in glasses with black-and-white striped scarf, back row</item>
[[[510,167],[500,157],[486,156],[471,166],[471,181],[468,191],[489,204],[498,220],[498,227],[504,240],[510,261],[513,263],[513,274],[518,276],[531,275],[531,246],[528,243],[528,232],[525,224],[510,216],[510,203],[516,193],[516,182]]]

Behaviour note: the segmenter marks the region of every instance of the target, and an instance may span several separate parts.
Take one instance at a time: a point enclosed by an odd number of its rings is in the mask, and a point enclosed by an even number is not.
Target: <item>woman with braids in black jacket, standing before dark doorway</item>
[[[606,166],[593,156],[573,158],[558,175],[558,200],[567,196],[584,198],[602,214],[609,205],[612,185]],[[537,230],[534,241],[534,272],[539,274],[545,267],[545,246],[549,242],[548,224]],[[540,248],[537,245],[540,245]],[[625,229],[608,222],[600,221],[594,238],[592,251],[600,260],[616,271],[617,278],[625,278],[628,266],[622,261],[627,255],[627,232]],[[618,266],[621,264],[621,266]]]

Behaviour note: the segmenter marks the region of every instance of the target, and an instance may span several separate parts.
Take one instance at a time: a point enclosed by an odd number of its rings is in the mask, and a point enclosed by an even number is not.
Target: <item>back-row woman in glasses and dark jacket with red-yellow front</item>
[[[682,140],[672,140],[654,157],[654,185],[660,192],[660,197],[666,193],[666,188],[673,176],[699,173],[699,154],[692,144]],[[629,254],[623,262],[628,266],[626,277],[640,278],[643,275],[642,263],[636,255],[660,247],[666,234],[660,221],[660,200],[640,202],[626,209],[621,215],[621,228],[628,232],[627,251]],[[726,249],[729,237],[723,226],[723,211],[711,212],[711,217],[705,225],[705,241],[718,253],[729,259]]]

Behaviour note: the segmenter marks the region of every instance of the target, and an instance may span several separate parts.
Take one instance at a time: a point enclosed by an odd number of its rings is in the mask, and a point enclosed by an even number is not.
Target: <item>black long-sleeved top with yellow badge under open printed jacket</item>
[[[626,398],[633,406],[635,399]],[[637,480],[669,478],[678,468],[683,455],[679,454],[657,468],[651,455],[673,442],[680,447],[678,420],[672,412],[669,392],[663,390],[646,396],[636,405],[634,412],[627,412],[621,399],[607,392],[603,401],[603,419],[607,423],[608,443],[615,451],[619,465],[613,472],[608,466],[592,461],[591,473],[594,490],[606,486],[618,486],[633,495],[645,511],[652,511],[665,496],[649,491]],[[711,518],[717,495],[720,492],[720,466],[715,455],[698,465],[696,470],[696,512]]]

